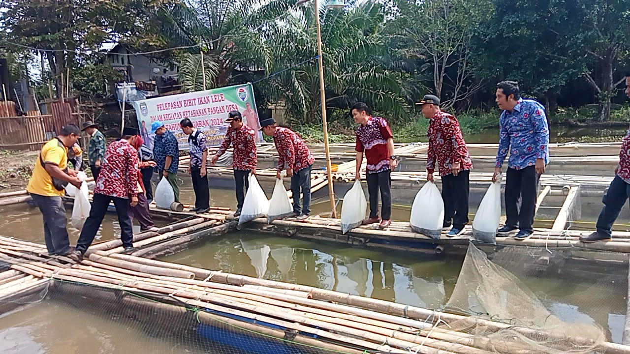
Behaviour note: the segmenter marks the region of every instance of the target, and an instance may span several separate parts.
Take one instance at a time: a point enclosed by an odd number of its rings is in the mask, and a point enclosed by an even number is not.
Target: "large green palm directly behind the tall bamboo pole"
[[[324,56],[326,105],[347,110],[364,101],[375,111],[398,117],[407,110],[401,80],[387,70],[384,12],[375,1],[350,3],[346,9],[319,9]],[[265,82],[275,100],[284,100],[297,122],[313,122],[321,110],[315,16],[312,6],[295,11],[268,32],[277,76]],[[344,112],[345,113],[345,112]],[[345,114],[347,115],[347,113]]]

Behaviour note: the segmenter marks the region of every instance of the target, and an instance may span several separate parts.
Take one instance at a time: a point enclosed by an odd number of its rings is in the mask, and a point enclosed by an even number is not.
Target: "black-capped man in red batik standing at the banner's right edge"
[[[258,156],[256,155],[256,132],[252,128],[243,123],[243,117],[239,111],[231,111],[227,115],[226,139],[223,140],[217,154],[212,157],[212,164],[219,161],[219,157],[224,154],[227,149],[234,147],[232,155],[232,166],[234,166],[234,180],[236,181],[236,213],[234,216],[241,215],[243,202],[245,200],[244,188],[249,188],[249,173],[256,174],[256,164],[258,164]]]

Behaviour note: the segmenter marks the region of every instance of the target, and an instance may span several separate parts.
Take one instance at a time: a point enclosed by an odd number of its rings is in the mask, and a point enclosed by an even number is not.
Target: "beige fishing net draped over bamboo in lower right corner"
[[[610,306],[626,308],[627,255],[572,247],[479,246],[469,244],[444,308],[469,317],[444,328],[470,334],[469,341],[486,341],[495,353],[607,351],[610,333],[598,323],[607,323]],[[573,311],[561,311],[559,305]],[[595,321],[598,316],[604,321]],[[505,326],[488,326],[483,319]]]

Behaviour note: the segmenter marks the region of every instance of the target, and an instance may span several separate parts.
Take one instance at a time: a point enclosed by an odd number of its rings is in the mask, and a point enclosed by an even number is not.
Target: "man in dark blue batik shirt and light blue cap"
[[[177,181],[177,168],[180,165],[180,145],[175,135],[164,123],[151,123],[151,134],[156,134],[153,141],[153,158],[156,160],[156,172],[161,173],[175,192],[175,202],[180,202],[180,186]]]

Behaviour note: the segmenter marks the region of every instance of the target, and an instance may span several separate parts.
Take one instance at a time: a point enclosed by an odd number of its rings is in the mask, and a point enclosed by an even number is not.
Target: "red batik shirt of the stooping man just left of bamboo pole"
[[[302,137],[289,128],[277,127],[273,144],[278,151],[278,171],[290,168],[295,173],[315,162],[311,149]]]

